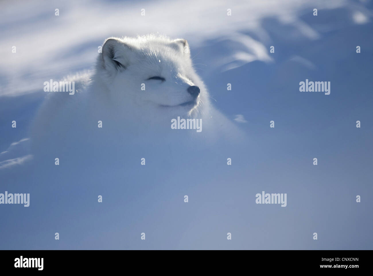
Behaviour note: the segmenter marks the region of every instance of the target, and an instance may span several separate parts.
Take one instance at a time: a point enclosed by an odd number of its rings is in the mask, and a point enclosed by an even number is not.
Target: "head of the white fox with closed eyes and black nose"
[[[98,72],[116,102],[192,115],[207,100],[185,39],[108,38]]]

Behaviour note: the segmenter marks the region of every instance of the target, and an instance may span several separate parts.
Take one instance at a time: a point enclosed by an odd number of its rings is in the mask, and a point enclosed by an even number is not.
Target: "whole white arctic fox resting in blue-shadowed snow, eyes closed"
[[[211,108],[185,39],[108,38],[94,72],[65,81],[74,81],[75,92],[50,93],[34,121],[37,152],[51,147],[60,153],[78,151],[87,143],[115,148],[123,142],[157,145],[176,136],[237,134],[235,126]],[[180,127],[188,118],[198,120],[198,125],[190,120],[197,131]]]

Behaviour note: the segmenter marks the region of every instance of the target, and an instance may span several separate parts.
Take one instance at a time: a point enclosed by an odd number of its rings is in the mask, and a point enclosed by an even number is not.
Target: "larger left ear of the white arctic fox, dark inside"
[[[107,71],[123,71],[130,63],[132,49],[118,38],[108,38],[102,47],[103,66]]]

